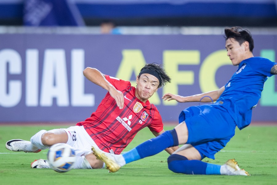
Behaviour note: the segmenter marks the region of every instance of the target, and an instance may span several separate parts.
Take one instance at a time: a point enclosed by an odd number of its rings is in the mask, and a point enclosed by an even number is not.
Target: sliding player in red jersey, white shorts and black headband
[[[158,136],[164,132],[163,122],[149,98],[158,88],[171,81],[159,64],[146,64],[136,78],[136,87],[129,81],[104,75],[95,68],[86,68],[84,76],[108,92],[97,110],[85,121],[67,129],[41,130],[30,141],[13,139],[6,142],[11,151],[39,152],[56,143],[67,143],[75,150],[75,169],[102,168],[105,164],[91,152],[91,146],[120,154],[144,127]],[[178,147],[176,147],[178,148]],[[176,148],[167,148],[172,154]],[[50,168],[47,160],[35,160],[32,168]]]

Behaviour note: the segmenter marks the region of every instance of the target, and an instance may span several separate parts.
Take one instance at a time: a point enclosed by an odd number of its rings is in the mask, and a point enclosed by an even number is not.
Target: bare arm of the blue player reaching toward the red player
[[[200,100],[201,100],[201,102],[211,102],[211,99],[212,99],[212,101],[216,101],[220,97],[220,95],[223,93],[224,90],[225,90],[225,87],[223,86],[219,90],[205,92],[202,94],[196,94],[196,95],[187,96],[187,97],[167,93],[167,94],[163,95],[162,99],[164,101],[176,100],[180,103],[195,102],[195,101],[199,102]]]

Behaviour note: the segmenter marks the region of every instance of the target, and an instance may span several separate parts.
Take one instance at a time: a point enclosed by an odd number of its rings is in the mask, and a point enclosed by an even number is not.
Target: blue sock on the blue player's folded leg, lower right
[[[172,154],[167,159],[168,168],[175,173],[194,175],[220,175],[220,165],[199,160],[187,160],[186,157]]]

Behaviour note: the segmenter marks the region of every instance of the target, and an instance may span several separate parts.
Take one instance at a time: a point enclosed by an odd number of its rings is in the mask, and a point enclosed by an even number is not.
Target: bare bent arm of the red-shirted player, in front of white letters
[[[96,68],[87,67],[83,71],[83,74],[92,83],[97,84],[100,87],[106,89],[110,93],[110,96],[114,98],[119,109],[123,109],[124,97],[122,92],[118,91],[112,84],[110,84],[110,82],[106,80],[106,77],[102,72],[100,72]]]

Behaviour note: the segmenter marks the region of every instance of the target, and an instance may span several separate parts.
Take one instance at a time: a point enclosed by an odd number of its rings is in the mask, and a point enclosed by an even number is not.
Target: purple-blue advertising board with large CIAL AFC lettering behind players
[[[277,60],[277,35],[253,35],[254,55]],[[106,90],[85,79],[93,67],[135,85],[145,63],[164,64],[172,83],[150,102],[164,121],[198,102],[163,101],[170,92],[182,96],[225,85],[237,70],[222,35],[0,35],[0,122],[77,122],[96,110]],[[253,121],[277,121],[277,81],[270,77],[253,110]]]

